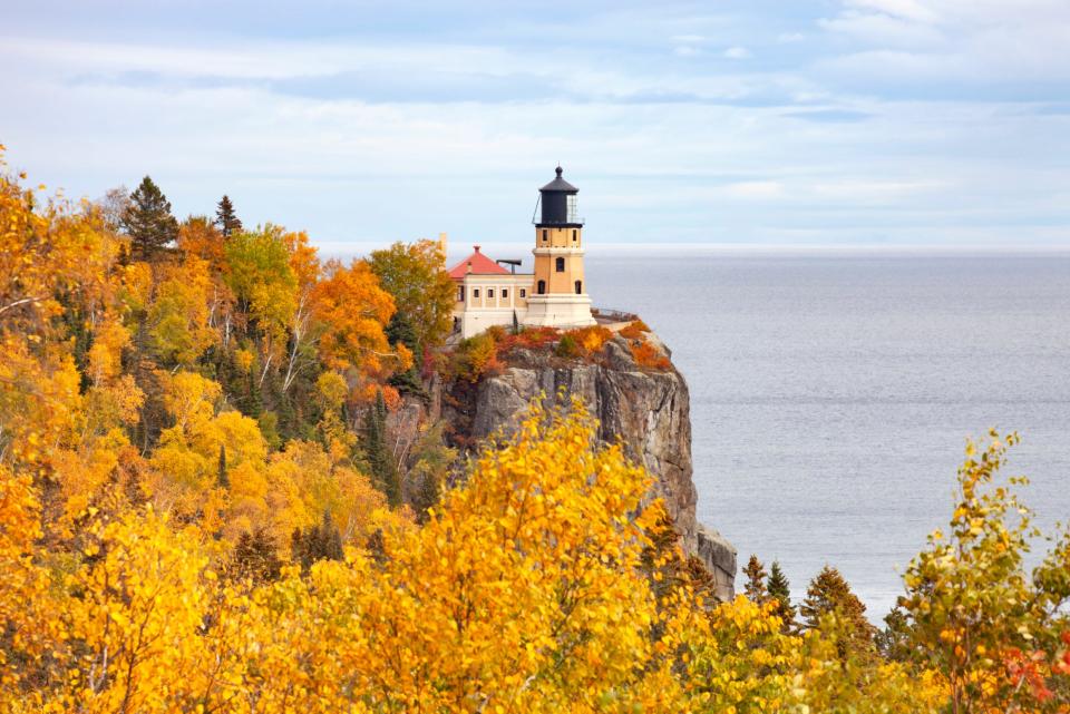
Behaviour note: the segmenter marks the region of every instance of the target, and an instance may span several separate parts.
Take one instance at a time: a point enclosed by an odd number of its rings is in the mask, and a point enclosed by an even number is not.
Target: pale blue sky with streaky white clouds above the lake
[[[1070,2],[3,1],[10,168],[346,252],[1070,244]]]

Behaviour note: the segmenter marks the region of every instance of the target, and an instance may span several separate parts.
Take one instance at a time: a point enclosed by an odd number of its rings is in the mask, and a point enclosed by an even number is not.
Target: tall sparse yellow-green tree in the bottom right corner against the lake
[[[1070,687],[1070,531],[1052,538],[1032,573],[1025,556],[1038,535],[1000,478],[1015,433],[970,441],[959,469],[949,532],[935,530],[903,576],[907,649],[946,677],[954,712],[1066,711]],[[1061,707],[1061,708],[1060,708]]]

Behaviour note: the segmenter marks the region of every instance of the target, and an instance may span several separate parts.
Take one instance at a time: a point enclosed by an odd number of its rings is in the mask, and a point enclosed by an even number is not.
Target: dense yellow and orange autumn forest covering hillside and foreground
[[[1070,711],[1070,537],[1027,571],[1016,436],[969,446],[884,628],[831,566],[718,603],[582,403],[467,463],[400,436],[432,378],[606,331],[447,350],[434,243],[324,262],[239,214],[0,177],[3,711]]]

